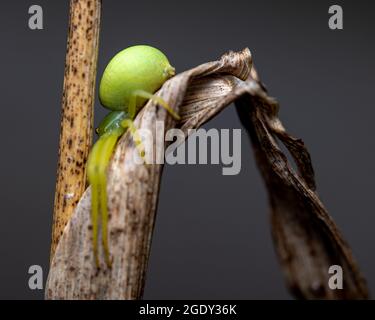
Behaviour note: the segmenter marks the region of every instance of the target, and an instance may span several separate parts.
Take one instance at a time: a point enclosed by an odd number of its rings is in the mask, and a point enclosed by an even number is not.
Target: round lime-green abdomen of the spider
[[[154,93],[172,77],[175,69],[158,49],[137,45],[116,54],[104,70],[99,86],[99,99],[110,110],[127,111],[130,95],[135,90]],[[147,99],[137,99],[137,109]]]

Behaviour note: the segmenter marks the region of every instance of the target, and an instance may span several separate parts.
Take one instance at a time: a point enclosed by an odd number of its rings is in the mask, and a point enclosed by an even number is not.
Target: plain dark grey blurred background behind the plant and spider
[[[28,29],[32,4],[42,31]],[[343,31],[328,29],[332,4],[343,5]],[[375,292],[374,15],[373,1],[104,0],[98,74],[133,44],[160,48],[178,71],[248,46]],[[1,2],[0,298],[43,297],[27,271],[48,270],[67,23],[68,1]],[[206,127],[241,125],[232,106]],[[268,218],[245,132],[238,176],[166,166],[145,298],[289,299]]]

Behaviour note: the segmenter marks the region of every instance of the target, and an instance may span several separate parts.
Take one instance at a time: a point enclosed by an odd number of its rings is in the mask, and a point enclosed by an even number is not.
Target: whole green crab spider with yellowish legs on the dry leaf
[[[111,267],[108,244],[107,167],[118,139],[129,129],[141,157],[141,139],[133,124],[136,113],[147,100],[165,108],[176,120],[180,117],[154,93],[173,77],[175,69],[158,49],[138,45],[116,54],[104,70],[99,85],[101,104],[112,110],[96,129],[98,141],[87,162],[87,178],[91,184],[91,223],[94,259],[99,267],[98,234],[101,227],[105,262]]]

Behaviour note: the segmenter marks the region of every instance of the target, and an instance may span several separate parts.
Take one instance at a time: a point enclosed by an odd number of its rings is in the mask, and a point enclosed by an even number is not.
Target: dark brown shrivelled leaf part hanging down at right
[[[256,81],[251,76],[248,82]],[[310,155],[303,141],[285,132],[267,102],[254,95],[236,101],[268,190],[271,227],[290,291],[303,299],[366,299],[368,290],[351,249],[315,192]],[[276,143],[290,151],[295,172]],[[329,287],[331,266],[343,270],[343,289]]]

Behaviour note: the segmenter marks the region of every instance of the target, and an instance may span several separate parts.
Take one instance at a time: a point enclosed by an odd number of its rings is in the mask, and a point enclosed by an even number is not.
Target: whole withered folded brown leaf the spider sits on
[[[308,151],[301,140],[283,129],[277,117],[278,104],[258,80],[248,49],[229,52],[218,61],[180,73],[157,94],[182,116],[182,121],[175,123],[165,110],[150,101],[136,117],[137,128],[155,132],[158,120],[164,122],[165,131],[178,127],[187,136],[189,129],[199,128],[236,101],[267,185],[275,247],[292,292],[300,298],[367,297],[351,251],[315,193]],[[277,138],[294,156],[298,173],[289,166]],[[153,150],[166,147],[164,140],[152,143]],[[108,170],[112,269],[104,261],[100,269],[95,267],[88,188],[57,247],[46,298],[142,297],[163,165],[137,165],[137,152],[126,133]],[[344,290],[328,288],[328,269],[333,264],[344,269]]]

